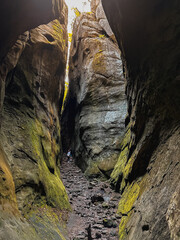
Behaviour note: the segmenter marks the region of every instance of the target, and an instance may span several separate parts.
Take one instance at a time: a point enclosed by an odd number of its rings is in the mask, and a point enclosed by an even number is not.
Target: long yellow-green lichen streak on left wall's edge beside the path
[[[54,154],[52,149],[53,143],[50,133],[46,132],[47,129],[44,131],[43,125],[38,119],[33,124],[31,132],[32,147],[35,156],[38,158],[39,178],[44,186],[47,202],[53,207],[70,209],[68,196],[56,166],[57,152]],[[54,142],[54,144],[56,143]],[[60,148],[57,147],[56,150],[59,151]]]

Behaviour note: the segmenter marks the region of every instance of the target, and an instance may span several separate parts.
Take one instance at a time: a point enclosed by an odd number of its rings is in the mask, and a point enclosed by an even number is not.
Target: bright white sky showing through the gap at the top
[[[80,12],[90,12],[90,1],[88,0],[65,0],[66,4],[68,5],[68,32],[71,33],[72,29],[72,23],[75,19],[75,13],[73,8],[77,8]]]

